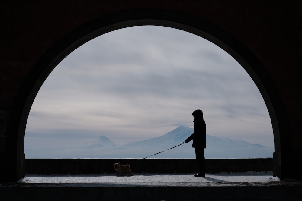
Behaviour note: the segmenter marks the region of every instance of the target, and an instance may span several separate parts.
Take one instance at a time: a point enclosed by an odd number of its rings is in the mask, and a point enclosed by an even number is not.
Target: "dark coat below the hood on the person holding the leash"
[[[194,122],[194,133],[187,138],[186,141],[193,140],[192,147],[206,148],[206,123],[203,118],[195,118]]]

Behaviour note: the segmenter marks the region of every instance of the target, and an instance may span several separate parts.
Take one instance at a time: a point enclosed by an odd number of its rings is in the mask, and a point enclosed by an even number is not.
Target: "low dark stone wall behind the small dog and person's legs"
[[[25,159],[25,174],[115,173],[113,164],[129,164],[133,173],[194,173],[195,159]],[[272,158],[206,159],[206,172],[272,171]]]

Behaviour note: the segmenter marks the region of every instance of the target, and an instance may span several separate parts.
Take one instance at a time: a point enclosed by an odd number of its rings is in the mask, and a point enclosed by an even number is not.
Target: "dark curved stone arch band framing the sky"
[[[17,150],[17,154],[24,152],[25,127],[31,105],[44,80],[63,58],[85,42],[101,34],[139,25],[172,27],[201,36],[220,46],[245,68],[259,88],[267,105],[275,139],[274,176],[282,178],[280,169],[281,149],[282,147],[291,146],[288,145],[290,136],[281,134],[285,133],[286,128],[289,127],[288,119],[284,115],[285,108],[282,105],[278,89],[263,64],[235,36],[227,33],[221,27],[188,14],[160,9],[120,11],[87,21],[48,49],[31,68],[14,102],[13,111],[11,112],[12,119],[9,121],[7,132],[16,134],[7,139],[11,144],[8,151],[15,152],[14,150]],[[22,177],[22,174],[24,174],[22,166],[18,172],[19,177]]]

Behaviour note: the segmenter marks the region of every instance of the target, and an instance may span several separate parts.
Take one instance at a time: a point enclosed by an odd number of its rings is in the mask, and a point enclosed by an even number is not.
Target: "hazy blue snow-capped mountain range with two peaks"
[[[106,136],[73,149],[48,150],[50,158],[195,158],[192,141],[183,143],[194,129],[180,126],[148,140],[134,141],[127,144],[114,143]],[[177,146],[173,149],[174,146]],[[169,150],[167,150],[169,149]],[[167,151],[165,151],[167,150]],[[164,151],[164,152],[162,152]],[[156,154],[161,152],[159,154]],[[273,147],[248,143],[244,140],[207,135],[206,158],[266,158],[272,157]],[[63,155],[64,154],[64,155]],[[152,157],[149,157],[156,154]],[[37,158],[37,157],[36,157]],[[43,157],[38,157],[43,158]]]

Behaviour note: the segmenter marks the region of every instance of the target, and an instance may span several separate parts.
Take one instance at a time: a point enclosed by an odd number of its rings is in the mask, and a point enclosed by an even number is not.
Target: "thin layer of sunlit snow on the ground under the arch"
[[[116,176],[115,174],[92,175],[32,175],[27,174],[20,183],[44,183],[49,186],[224,186],[224,185],[261,185],[280,181],[272,172],[220,173],[194,177],[193,174],[135,174]]]

